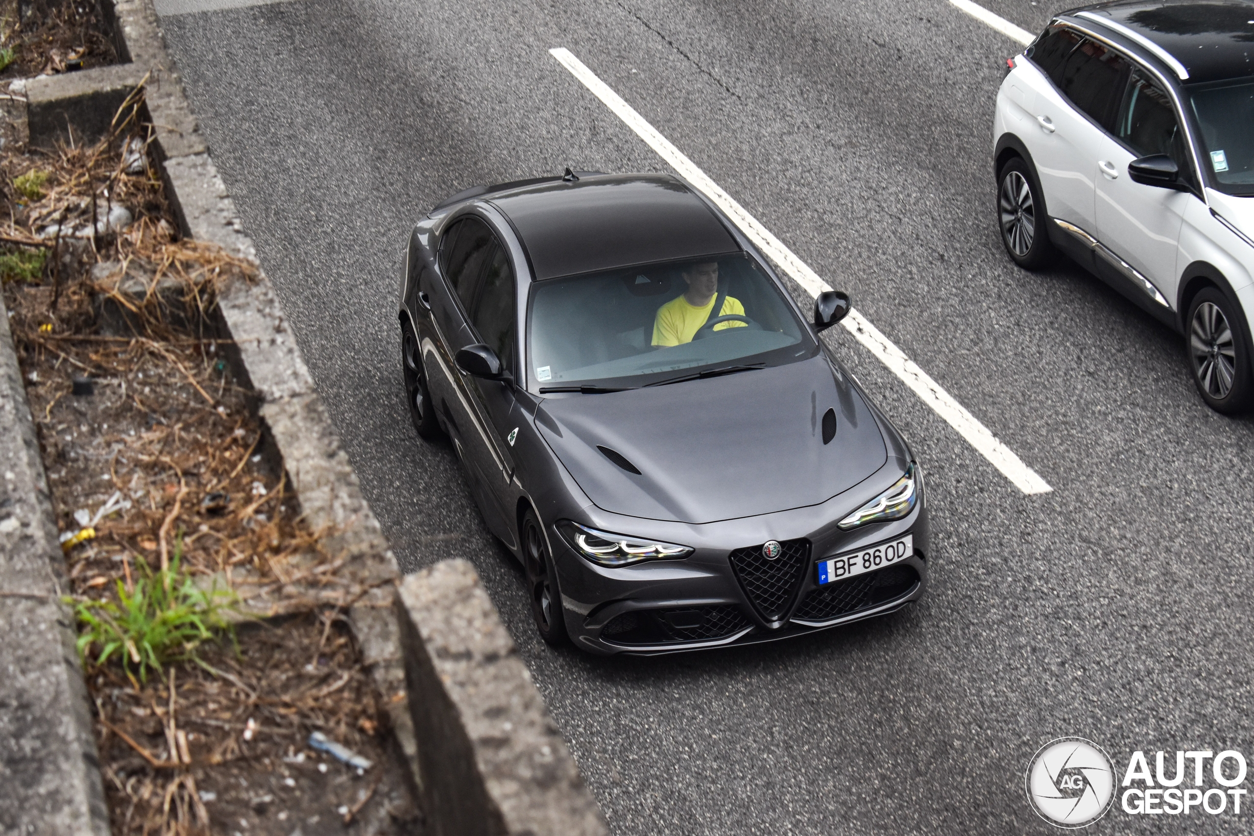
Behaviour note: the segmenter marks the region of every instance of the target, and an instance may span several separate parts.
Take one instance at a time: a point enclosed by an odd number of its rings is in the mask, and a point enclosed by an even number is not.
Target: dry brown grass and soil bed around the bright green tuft
[[[199,663],[147,682],[88,661],[113,831],[400,832],[415,815],[405,767],[342,618],[364,590],[336,579],[326,533],[302,523],[214,332],[218,295],[255,267],[179,238],[147,157],[127,155],[148,137],[134,115],[90,148],[0,157],[0,256],[46,254],[4,296],[58,525],[76,534],[70,592],[117,599],[140,558],[167,567],[181,541],[203,588],[283,617],[246,620],[238,651],[201,644]],[[119,206],[130,226],[97,223]],[[376,766],[326,758],[311,731]]]

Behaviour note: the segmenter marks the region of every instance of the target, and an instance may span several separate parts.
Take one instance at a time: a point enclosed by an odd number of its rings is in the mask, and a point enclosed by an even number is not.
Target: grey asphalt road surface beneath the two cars
[[[1031,31],[1057,9],[986,5]],[[295,0],[163,25],[401,567],[479,568],[614,833],[1045,833],[1023,770],[1055,737],[1120,771],[1136,750],[1249,752],[1254,422],[1209,411],[1181,340],[1130,302],[1006,257],[991,125],[1018,44],[946,0]],[[927,473],[930,594],[742,649],[544,647],[451,449],[410,429],[395,310],[401,244],[443,197],[667,170],[553,46],[1053,491],[1022,494],[834,328]],[[1240,832],[1243,812],[1116,802],[1091,832]]]

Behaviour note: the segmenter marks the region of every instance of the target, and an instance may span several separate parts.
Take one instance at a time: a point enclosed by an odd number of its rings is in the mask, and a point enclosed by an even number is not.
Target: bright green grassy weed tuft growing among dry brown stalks
[[[181,556],[182,539],[168,569],[154,572],[138,558],[134,592],[128,594],[118,580],[117,602],[66,599],[82,624],[79,656],[87,658],[99,647],[97,664],[117,657],[128,676],[138,666],[139,679],[147,682],[149,671],[162,673],[171,662],[198,662],[196,649],[206,640],[226,633],[234,642],[234,627],[224,615],[236,608],[237,595],[219,590],[217,583],[209,592],[198,588],[181,567]]]

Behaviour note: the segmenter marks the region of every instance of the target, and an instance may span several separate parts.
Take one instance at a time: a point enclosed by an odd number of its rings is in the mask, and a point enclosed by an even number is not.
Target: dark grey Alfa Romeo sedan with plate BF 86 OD
[[[405,394],[522,562],[535,625],[596,653],[796,635],[923,593],[900,434],[735,226],[681,180],[480,187],[413,232]]]

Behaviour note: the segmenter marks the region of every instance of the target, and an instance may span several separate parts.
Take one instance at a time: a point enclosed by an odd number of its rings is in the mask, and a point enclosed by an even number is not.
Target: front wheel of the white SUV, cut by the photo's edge
[[[1216,412],[1250,407],[1250,350],[1239,311],[1215,287],[1204,288],[1189,305],[1189,367],[1206,405]]]

